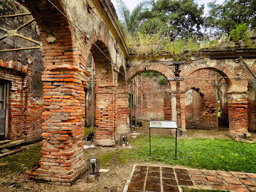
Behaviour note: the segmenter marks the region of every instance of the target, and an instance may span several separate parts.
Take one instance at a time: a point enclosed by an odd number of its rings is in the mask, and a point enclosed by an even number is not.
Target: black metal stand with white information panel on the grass
[[[155,125],[152,125],[151,123],[154,122],[156,123]],[[164,124],[166,125],[166,127],[161,125],[161,122],[164,122]],[[171,123],[170,126],[168,125],[168,123]],[[161,127],[158,125],[161,125]],[[176,139],[175,139],[175,159],[177,159],[177,137],[178,137],[178,127],[175,121],[172,120],[151,120],[150,124],[149,124],[149,156],[151,156],[151,128],[157,128],[157,129],[175,129],[175,135],[176,135]]]

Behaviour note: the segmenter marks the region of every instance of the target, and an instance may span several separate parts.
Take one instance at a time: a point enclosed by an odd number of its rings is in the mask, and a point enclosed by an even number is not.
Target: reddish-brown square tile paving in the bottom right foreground
[[[256,192],[256,174],[135,165],[123,192],[182,191],[181,186]]]

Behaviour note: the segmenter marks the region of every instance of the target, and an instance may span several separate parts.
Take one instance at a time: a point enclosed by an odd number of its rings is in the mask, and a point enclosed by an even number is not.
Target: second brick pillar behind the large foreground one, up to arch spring
[[[95,144],[100,146],[114,146],[115,132],[115,95],[116,87],[96,87],[96,131]]]

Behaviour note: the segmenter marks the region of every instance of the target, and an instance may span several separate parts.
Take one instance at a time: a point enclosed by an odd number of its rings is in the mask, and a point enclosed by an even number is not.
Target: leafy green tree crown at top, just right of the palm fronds
[[[144,11],[141,18],[142,23],[157,21],[157,28],[162,35],[173,41],[188,34],[201,36],[203,9],[203,6],[198,7],[193,0],[158,0],[152,1],[152,9]]]

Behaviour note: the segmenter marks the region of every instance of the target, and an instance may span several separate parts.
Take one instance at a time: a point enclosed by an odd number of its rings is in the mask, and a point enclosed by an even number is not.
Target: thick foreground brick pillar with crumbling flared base
[[[43,80],[43,140],[38,169],[31,178],[70,185],[85,171],[83,125],[85,78],[80,72],[45,71]]]

